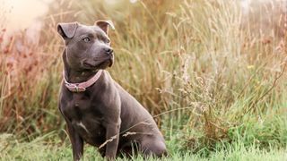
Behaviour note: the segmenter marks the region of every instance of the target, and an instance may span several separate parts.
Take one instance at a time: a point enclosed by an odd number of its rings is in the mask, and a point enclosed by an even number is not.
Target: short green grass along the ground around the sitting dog
[[[181,150],[183,146],[178,144],[178,139],[173,138],[167,141],[169,157],[149,158],[148,160],[229,160],[229,161],[284,161],[287,160],[287,148],[273,148],[269,150],[260,149],[256,145],[244,146],[241,142],[224,144],[213,151],[209,151],[208,156],[201,153],[193,153],[190,150]],[[71,160],[73,158],[72,148],[68,140],[59,140],[57,135],[48,134],[30,142],[14,140],[8,134],[0,135],[0,160]],[[223,148],[224,147],[224,148]],[[83,160],[103,160],[96,148],[85,145]],[[127,160],[117,158],[117,160]],[[132,160],[143,161],[142,156],[132,157]]]

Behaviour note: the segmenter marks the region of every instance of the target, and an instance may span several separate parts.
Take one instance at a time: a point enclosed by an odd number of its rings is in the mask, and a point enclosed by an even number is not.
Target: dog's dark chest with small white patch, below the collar
[[[65,97],[61,106],[62,113],[69,119],[74,130],[92,145],[98,144],[95,141],[104,137],[106,132],[102,125],[103,116],[94,102],[83,93],[74,93]]]

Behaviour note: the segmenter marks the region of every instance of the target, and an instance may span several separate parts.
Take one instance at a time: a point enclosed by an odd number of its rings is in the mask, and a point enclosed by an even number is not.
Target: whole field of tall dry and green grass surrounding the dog
[[[284,1],[252,1],[247,11],[235,0],[113,2],[52,1],[32,38],[7,36],[1,16],[0,160],[72,159],[57,109],[64,43],[56,27],[100,19],[116,27],[110,74],[166,139],[169,157],[149,160],[287,160]],[[83,160],[101,159],[85,146]]]

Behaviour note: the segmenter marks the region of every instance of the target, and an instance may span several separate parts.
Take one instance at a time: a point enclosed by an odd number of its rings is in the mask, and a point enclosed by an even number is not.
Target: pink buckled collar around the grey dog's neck
[[[72,92],[83,92],[100,78],[101,72],[102,70],[99,70],[93,77],[91,77],[90,80],[86,80],[81,83],[69,83],[65,80],[65,72],[63,72],[65,87]]]

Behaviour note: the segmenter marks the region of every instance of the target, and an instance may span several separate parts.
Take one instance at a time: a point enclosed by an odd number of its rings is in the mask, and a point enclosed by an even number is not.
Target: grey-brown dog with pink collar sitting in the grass
[[[114,29],[111,21],[96,21],[92,26],[57,24],[65,42],[58,108],[74,160],[83,157],[84,142],[99,148],[108,160],[139,152],[144,157],[165,156],[165,140],[152,115],[105,70],[114,63],[109,27]]]

